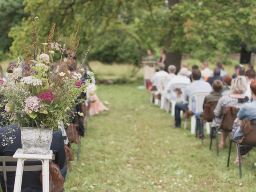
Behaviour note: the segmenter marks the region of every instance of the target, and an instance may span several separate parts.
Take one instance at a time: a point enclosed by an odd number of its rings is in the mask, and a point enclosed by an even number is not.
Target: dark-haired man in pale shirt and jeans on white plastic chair
[[[200,80],[201,78],[201,72],[200,70],[193,70],[192,71],[192,83],[186,86],[185,88],[185,98],[186,101],[188,102],[188,97],[195,93],[195,92],[212,92],[212,87],[210,86],[209,83]],[[188,110],[188,104],[186,103],[176,103],[175,105],[175,126],[174,128],[180,128],[181,125],[181,119],[180,119],[180,111],[186,111]],[[192,112],[195,114],[196,113],[196,100],[192,99]]]

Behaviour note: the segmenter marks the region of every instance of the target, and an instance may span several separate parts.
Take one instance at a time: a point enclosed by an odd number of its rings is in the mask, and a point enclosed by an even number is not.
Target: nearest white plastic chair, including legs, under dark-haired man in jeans
[[[209,95],[209,92],[203,92],[203,91],[199,91],[199,92],[195,92],[193,94],[191,94],[188,97],[188,110],[192,110],[192,98],[195,99],[196,102],[196,113],[203,111],[203,104],[204,104],[204,98]],[[184,128],[186,128],[186,122],[184,124]],[[208,134],[210,134],[210,124],[206,124],[206,131]],[[191,134],[195,134],[196,132],[196,116],[193,115],[191,117]]]

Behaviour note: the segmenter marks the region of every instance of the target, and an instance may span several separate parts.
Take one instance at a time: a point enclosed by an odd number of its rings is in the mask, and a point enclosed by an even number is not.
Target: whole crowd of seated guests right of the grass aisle
[[[176,66],[169,65],[168,72],[164,71],[164,63],[158,64],[158,71],[150,80],[152,85],[149,87],[150,94],[155,96],[160,94],[158,100],[164,102],[164,107],[172,101],[175,101],[175,123],[172,128],[180,128],[182,124],[181,111],[183,114],[188,113],[191,116],[195,115],[196,118],[196,137],[204,138],[203,129],[203,110],[207,103],[216,102],[216,105],[212,109],[213,120],[211,122],[212,128],[220,128],[223,122],[224,109],[228,107],[234,107],[239,110],[236,120],[232,122],[232,138],[240,139],[243,136],[243,132],[240,128],[240,122],[244,119],[256,118],[256,71],[252,64],[236,65],[234,68],[234,74],[230,76],[224,71],[224,65],[222,62],[217,62],[214,69],[211,70],[208,67],[207,62],[202,62],[201,70],[198,66],[192,66],[192,70],[188,69],[188,63],[182,62],[180,70],[176,71]],[[177,74],[177,75],[176,75]],[[185,88],[177,88],[175,85],[185,84]],[[154,91],[152,91],[154,90]],[[208,93],[205,96],[202,111],[196,111],[196,99],[192,97],[190,109],[189,97],[197,92]],[[160,105],[159,105],[160,106]],[[220,148],[226,146],[226,138],[230,132],[219,132],[221,134],[221,140],[219,143]],[[211,137],[214,137],[217,132],[211,132]],[[256,140],[256,138],[255,138]],[[237,158],[234,163],[238,164],[239,155],[246,154],[251,148],[242,148],[240,154],[237,154]]]

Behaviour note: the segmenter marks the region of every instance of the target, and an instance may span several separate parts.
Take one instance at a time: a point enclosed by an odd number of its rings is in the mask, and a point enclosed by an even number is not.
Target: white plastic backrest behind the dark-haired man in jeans
[[[188,98],[188,110],[192,110],[192,99],[196,102],[196,113],[203,111],[204,98],[209,95],[209,92],[199,91],[191,94]]]

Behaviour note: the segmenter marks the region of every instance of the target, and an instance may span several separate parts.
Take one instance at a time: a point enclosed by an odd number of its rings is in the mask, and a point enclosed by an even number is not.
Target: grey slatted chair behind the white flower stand
[[[55,159],[55,155],[52,155],[52,160]],[[5,189],[7,192],[7,172],[16,172],[17,166],[10,166],[6,165],[8,162],[17,162],[18,159],[13,158],[12,156],[0,156],[0,162],[2,162],[2,166],[0,166],[0,172],[3,172],[4,182],[5,182]],[[28,161],[35,161],[35,160],[26,160]],[[51,162],[51,160],[49,161]],[[23,167],[23,171],[42,171],[42,165],[26,165]]]

